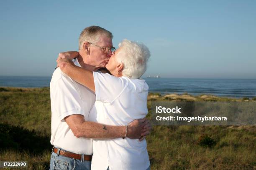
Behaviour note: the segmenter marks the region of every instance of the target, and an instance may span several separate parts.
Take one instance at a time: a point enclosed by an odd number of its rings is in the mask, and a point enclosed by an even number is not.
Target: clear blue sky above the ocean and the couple
[[[87,26],[151,51],[144,74],[256,79],[256,1],[0,1],[0,75],[51,76]]]

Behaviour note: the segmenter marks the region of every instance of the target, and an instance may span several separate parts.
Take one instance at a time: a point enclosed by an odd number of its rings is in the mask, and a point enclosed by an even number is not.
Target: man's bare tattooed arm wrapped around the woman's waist
[[[70,115],[65,117],[65,121],[77,138],[122,138],[125,137],[126,133],[126,126],[111,126],[85,121],[83,115]],[[145,131],[143,126],[147,123],[147,120],[144,119],[134,120],[129,123],[126,137],[131,139],[140,139],[141,134]]]

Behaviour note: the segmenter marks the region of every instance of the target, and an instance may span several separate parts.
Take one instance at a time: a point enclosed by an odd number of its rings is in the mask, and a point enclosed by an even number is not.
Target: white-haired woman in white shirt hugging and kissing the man
[[[128,125],[148,113],[148,85],[140,77],[146,71],[149,57],[150,52],[145,45],[123,40],[106,65],[112,75],[77,67],[67,58],[57,62],[62,72],[95,92],[95,112],[99,123]],[[146,140],[93,140],[92,169],[147,170],[149,166]]]

